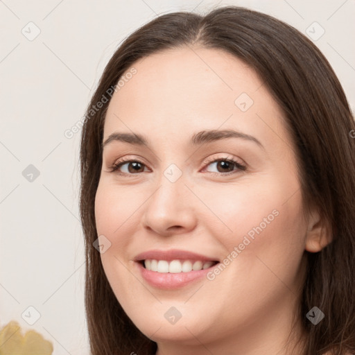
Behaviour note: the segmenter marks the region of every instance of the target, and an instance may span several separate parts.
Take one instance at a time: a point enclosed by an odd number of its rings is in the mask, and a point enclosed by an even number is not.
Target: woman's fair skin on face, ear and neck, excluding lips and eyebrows
[[[282,111],[257,74],[224,51],[185,46],[133,67],[137,74],[110,101],[103,141],[112,132],[135,132],[150,146],[107,144],[95,201],[98,235],[112,243],[101,260],[117,300],[157,342],[158,355],[290,354],[302,255],[327,241],[317,211],[302,214]],[[246,112],[234,103],[243,92],[254,101]],[[189,144],[194,132],[228,128],[256,137],[264,149],[236,138]],[[121,157],[144,165],[139,173],[129,163],[121,167],[125,176],[111,173]],[[225,175],[207,162],[225,157],[247,171],[232,165]],[[164,176],[171,164],[182,171],[176,182]],[[171,248],[223,260],[273,210],[279,215],[213,281],[161,290],[133,261],[140,252]],[[182,314],[175,324],[164,318],[171,306]],[[292,334],[299,334],[298,323]]]

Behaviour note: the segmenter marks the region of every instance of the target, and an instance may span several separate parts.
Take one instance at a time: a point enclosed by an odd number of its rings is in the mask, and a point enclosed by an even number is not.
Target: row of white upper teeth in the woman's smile
[[[189,261],[189,260],[173,260],[173,261],[166,261],[166,260],[144,260],[144,266],[147,270],[155,271],[155,272],[162,272],[167,273],[170,272],[171,274],[178,274],[179,272],[190,272],[190,271],[198,271],[198,270],[205,270],[210,268],[214,265],[213,261]]]

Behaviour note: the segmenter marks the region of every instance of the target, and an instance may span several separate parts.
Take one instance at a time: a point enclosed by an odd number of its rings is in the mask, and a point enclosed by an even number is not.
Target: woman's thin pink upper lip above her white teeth
[[[182,260],[200,260],[200,261],[218,261],[213,257],[207,257],[206,255],[198,254],[196,252],[189,252],[188,250],[148,250],[141,252],[135,257],[135,261],[142,261],[146,259],[166,260],[172,261],[177,259]]]

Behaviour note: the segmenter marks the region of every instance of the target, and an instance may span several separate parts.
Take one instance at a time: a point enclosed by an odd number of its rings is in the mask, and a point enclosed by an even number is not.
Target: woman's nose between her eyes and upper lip
[[[193,193],[185,186],[184,175],[171,182],[162,174],[159,186],[148,198],[142,223],[150,232],[162,236],[188,233],[196,227]]]

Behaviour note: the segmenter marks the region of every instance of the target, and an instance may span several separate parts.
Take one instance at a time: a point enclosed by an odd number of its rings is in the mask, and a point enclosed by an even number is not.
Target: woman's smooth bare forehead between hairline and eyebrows
[[[255,133],[259,140],[275,141],[275,135],[289,140],[282,111],[263,81],[231,53],[195,46],[168,49],[138,60],[121,78],[132,68],[135,75],[121,81],[110,101],[104,140],[117,130],[173,137],[219,127]]]

